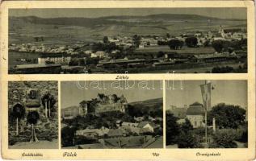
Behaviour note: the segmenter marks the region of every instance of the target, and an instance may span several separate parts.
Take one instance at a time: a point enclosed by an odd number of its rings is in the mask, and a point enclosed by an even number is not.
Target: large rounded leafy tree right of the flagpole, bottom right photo
[[[212,125],[212,118],[216,119],[216,126],[219,129],[237,129],[238,126],[245,125],[246,109],[242,109],[239,105],[220,103],[212,107],[208,113],[208,125]]]

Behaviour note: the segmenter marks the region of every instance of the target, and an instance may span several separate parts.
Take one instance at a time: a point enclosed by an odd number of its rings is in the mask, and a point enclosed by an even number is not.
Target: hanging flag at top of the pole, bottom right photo
[[[200,85],[200,87],[201,87],[201,93],[202,93],[203,102],[204,102],[204,110],[207,111],[208,109],[211,109],[212,84],[211,82],[205,82],[205,84]]]

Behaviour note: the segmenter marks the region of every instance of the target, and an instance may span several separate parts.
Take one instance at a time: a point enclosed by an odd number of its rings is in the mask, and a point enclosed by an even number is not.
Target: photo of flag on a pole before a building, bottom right
[[[174,85],[166,89],[166,148],[248,147],[247,81]]]

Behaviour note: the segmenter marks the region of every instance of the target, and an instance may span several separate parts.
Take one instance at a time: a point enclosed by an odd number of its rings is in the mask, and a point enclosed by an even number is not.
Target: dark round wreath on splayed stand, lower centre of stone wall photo
[[[27,114],[27,122],[32,125],[30,142],[38,142],[38,139],[36,137],[35,125],[39,118],[39,114],[36,111],[32,111]]]

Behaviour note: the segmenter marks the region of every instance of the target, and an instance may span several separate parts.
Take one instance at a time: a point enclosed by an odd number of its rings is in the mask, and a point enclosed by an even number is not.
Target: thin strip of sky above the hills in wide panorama
[[[198,14],[219,19],[246,19],[246,8],[87,8],[87,9],[10,9],[10,16],[41,18],[86,17],[111,15]]]

